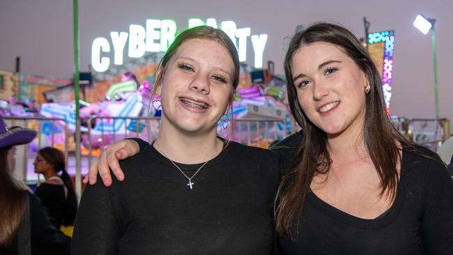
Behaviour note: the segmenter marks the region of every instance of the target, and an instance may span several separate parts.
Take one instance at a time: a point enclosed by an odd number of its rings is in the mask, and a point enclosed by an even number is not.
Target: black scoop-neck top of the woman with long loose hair
[[[297,133],[274,150],[297,162]],[[453,183],[436,153],[403,150],[397,196],[376,219],[348,215],[309,192],[292,239],[278,240],[282,254],[453,254]]]

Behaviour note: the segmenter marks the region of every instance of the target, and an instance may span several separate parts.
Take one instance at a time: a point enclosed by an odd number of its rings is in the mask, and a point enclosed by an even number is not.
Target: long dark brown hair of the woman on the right
[[[367,50],[353,33],[343,26],[326,22],[312,24],[307,29],[298,27],[286,52],[284,70],[289,107],[295,121],[305,132],[305,137],[298,150],[297,167],[286,173],[277,194],[276,228],[277,233],[281,235],[291,235],[292,230],[297,228],[314,176],[327,173],[332,162],[327,149],[327,134],[316,127],[300,107],[291,75],[291,60],[294,52],[316,42],[327,42],[339,47],[367,77],[371,89],[365,99],[362,137],[367,153],[381,179],[381,196],[389,194],[394,198],[399,178],[397,164],[401,160],[397,141],[408,144],[392,125],[385,112],[378,70]]]

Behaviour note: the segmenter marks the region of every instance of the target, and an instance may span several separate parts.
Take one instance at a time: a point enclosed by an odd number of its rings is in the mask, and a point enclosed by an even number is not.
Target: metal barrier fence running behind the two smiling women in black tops
[[[160,118],[145,117],[112,117],[96,116],[83,120],[87,125],[87,132],[82,134],[82,171],[76,173],[75,158],[68,152],[73,151],[73,139],[70,139],[68,123],[62,118],[40,117],[3,117],[8,126],[18,125],[30,127],[38,132],[38,136],[30,144],[23,147],[18,153],[15,173],[22,180],[29,180],[28,169],[33,169],[33,159],[36,152],[45,146],[59,146],[66,157],[66,166],[69,173],[75,174],[76,179],[88,171],[89,164],[94,157],[109,144],[128,137],[139,137],[146,141],[153,141],[160,129]],[[422,119],[422,118],[392,118],[397,129],[408,139],[436,151],[438,146],[451,136],[450,120]],[[293,123],[294,124],[294,123]],[[289,130],[296,130],[295,125],[288,125],[284,119],[237,119],[227,130],[218,129],[221,137],[238,141],[241,144],[268,148],[272,141],[283,139]],[[230,132],[231,131],[231,132]],[[21,149],[20,149],[21,150]],[[85,162],[83,162],[85,161]],[[72,162],[72,164],[68,164]],[[84,164],[82,164],[82,162]],[[33,173],[33,171],[31,171]],[[76,185],[77,186],[77,185]],[[80,196],[80,190],[77,190]]]

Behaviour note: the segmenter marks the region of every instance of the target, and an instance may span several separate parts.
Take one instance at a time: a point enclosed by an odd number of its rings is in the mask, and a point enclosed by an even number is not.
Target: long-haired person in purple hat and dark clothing
[[[50,223],[39,199],[10,174],[15,146],[35,137],[29,128],[8,129],[0,117],[0,255],[69,254],[70,238]]]

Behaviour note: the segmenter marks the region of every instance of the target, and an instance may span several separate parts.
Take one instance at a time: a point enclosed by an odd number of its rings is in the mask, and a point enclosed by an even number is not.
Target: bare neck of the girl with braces
[[[223,142],[217,139],[215,129],[204,134],[185,134],[169,126],[162,121],[154,146],[170,160],[198,164],[211,160],[222,150]]]

